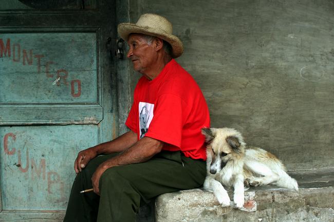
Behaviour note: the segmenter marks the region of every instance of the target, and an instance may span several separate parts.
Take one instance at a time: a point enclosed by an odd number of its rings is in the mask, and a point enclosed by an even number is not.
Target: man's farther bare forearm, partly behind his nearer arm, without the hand
[[[136,142],[137,134],[130,130],[112,141],[99,144],[91,149],[93,149],[97,155],[119,153],[133,146]]]

